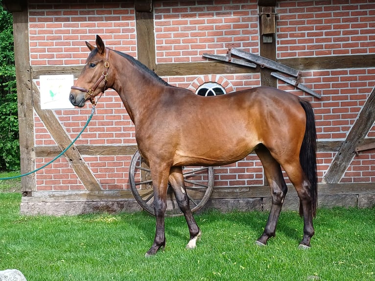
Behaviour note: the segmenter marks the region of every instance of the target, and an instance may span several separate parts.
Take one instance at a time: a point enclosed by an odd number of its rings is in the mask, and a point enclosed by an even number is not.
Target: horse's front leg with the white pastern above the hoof
[[[190,240],[188,242],[187,248],[195,248],[196,240],[200,237],[201,232],[197,223],[195,222],[194,216],[191,212],[188,195],[186,193],[186,188],[184,184],[184,176],[182,174],[181,167],[172,167],[169,174],[169,183],[173,188],[174,194],[178,206],[184,213],[186,222],[188,223]]]

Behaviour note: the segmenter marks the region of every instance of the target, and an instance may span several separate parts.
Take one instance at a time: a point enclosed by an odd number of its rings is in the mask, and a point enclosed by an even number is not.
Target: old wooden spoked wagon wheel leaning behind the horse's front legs
[[[213,187],[212,167],[183,167],[183,175],[190,208],[192,212],[200,210],[209,200]],[[143,162],[140,152],[133,155],[129,171],[130,187],[137,202],[145,211],[155,215],[154,190],[151,173]],[[168,184],[166,216],[180,216],[182,211],[176,202],[173,188]]]

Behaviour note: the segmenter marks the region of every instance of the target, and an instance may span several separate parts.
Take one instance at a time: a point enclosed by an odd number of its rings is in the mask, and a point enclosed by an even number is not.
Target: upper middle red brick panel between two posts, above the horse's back
[[[228,47],[258,53],[257,1],[197,3],[154,2],[158,63],[202,61],[203,53],[225,54]]]

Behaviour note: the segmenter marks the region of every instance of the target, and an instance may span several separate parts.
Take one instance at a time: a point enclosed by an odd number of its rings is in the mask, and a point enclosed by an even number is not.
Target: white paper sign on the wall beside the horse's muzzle
[[[69,101],[70,87],[74,77],[67,75],[40,75],[41,109],[72,109]]]

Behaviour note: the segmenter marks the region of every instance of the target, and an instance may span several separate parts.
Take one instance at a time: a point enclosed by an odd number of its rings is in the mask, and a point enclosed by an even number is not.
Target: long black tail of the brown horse
[[[310,103],[306,100],[301,99],[300,103],[306,113],[306,129],[305,137],[302,141],[301,152],[300,152],[300,163],[302,169],[305,172],[307,179],[309,180],[310,196],[312,199],[312,215],[315,217],[316,208],[318,204],[318,179],[316,173],[316,128],[315,128],[315,117],[314,111]],[[302,216],[302,204],[300,203],[300,215]]]

